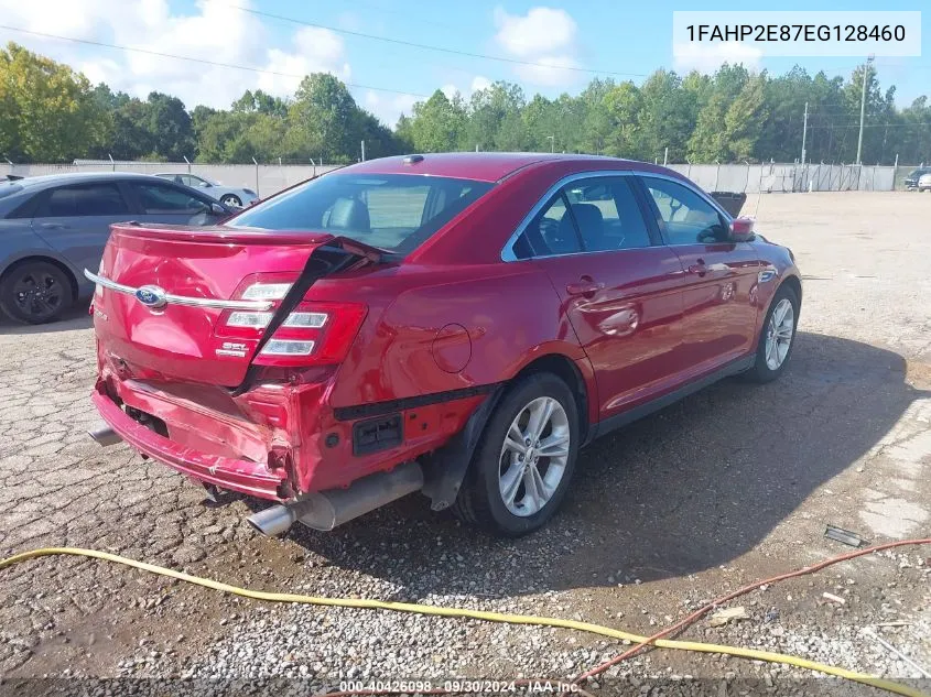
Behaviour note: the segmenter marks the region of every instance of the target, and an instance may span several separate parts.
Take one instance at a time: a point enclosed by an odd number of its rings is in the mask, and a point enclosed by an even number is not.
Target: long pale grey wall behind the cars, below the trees
[[[890,192],[896,187],[897,168],[889,166],[822,165],[822,164],[673,164],[675,170],[706,192],[744,192],[747,194],[775,192]],[[318,174],[338,168],[335,165],[260,164],[191,164],[181,163],[82,163],[82,164],[0,164],[0,174],[39,176],[65,172],[191,172],[227,186],[247,187],[260,197],[271,196],[283,188]],[[898,167],[900,173],[903,167]],[[908,168],[909,171],[911,168]],[[901,177],[899,177],[900,179]],[[901,187],[901,182],[899,182]]]

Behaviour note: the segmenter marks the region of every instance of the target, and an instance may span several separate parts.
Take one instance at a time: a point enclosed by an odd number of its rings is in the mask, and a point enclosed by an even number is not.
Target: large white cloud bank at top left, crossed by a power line
[[[64,9],[61,0],[0,0],[4,23],[86,41],[119,44],[206,62],[257,67],[296,77],[180,61],[0,30],[0,42],[15,41],[32,51],[74,66],[93,83],[144,98],[155,89],[176,95],[188,108],[228,108],[246,89],[279,96],[294,91],[301,76],[328,72],[350,75],[338,34],[301,28],[291,44],[269,47],[273,40],[255,15],[231,9],[223,0],[198,0],[192,13],[172,13],[167,0],[82,0]],[[72,4],[72,3],[68,3]],[[78,4],[74,2],[74,4]],[[248,0],[241,2],[249,7]]]

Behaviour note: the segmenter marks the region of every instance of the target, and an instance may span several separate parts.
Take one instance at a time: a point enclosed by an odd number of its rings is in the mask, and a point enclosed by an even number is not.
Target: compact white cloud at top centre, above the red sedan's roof
[[[516,65],[515,73],[534,85],[560,87],[578,78],[575,58],[578,25],[565,10],[531,8],[527,14],[495,9],[495,41],[510,57],[533,65]]]

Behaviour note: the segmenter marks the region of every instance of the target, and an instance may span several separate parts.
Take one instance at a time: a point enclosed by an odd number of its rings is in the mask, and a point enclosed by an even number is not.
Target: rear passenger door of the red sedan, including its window
[[[667,391],[682,340],[682,265],[621,173],[551,194],[513,244],[545,270],[585,349],[599,420]]]

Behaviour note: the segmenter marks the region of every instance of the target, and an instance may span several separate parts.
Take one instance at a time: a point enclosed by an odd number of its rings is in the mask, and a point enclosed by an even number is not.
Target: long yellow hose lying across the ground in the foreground
[[[442,608],[436,606],[418,605],[414,602],[391,602],[385,600],[369,600],[355,598],[320,598],[316,596],[302,596],[296,593],[283,592],[267,592],[263,590],[249,590],[247,588],[239,588],[238,586],[230,586],[229,584],[221,584],[209,578],[201,578],[192,576],[183,571],[175,571],[174,569],[165,568],[163,566],[155,566],[154,564],[147,564],[145,562],[137,562],[136,559],[128,559],[108,552],[98,552],[96,549],[83,549],[79,547],[44,547],[41,549],[32,549],[21,554],[14,554],[11,557],[0,560],[0,569],[13,566],[20,562],[28,559],[35,559],[44,556],[54,555],[73,555],[82,557],[90,557],[94,559],[102,559],[105,562],[112,562],[131,566],[150,574],[158,574],[169,578],[176,578],[195,586],[204,588],[213,588],[220,592],[228,592],[234,596],[241,596],[242,598],[251,598],[252,600],[264,600],[268,602],[301,602],[304,605],[315,606],[332,606],[337,608],[364,608],[369,610],[393,610],[396,612],[415,612],[418,614],[434,614],[437,617],[461,617],[472,618],[474,620],[484,620],[486,622],[504,622],[506,624],[535,624],[539,627],[559,627],[562,629],[571,629],[580,632],[589,632],[592,634],[599,634],[602,636],[610,636],[611,639],[627,640],[631,643],[640,643],[646,640],[645,636],[624,632],[621,630],[611,629],[609,627],[602,627],[600,624],[592,624],[589,622],[576,622],[575,620],[561,620],[559,618],[550,617],[534,617],[531,614],[506,614],[504,612],[484,612],[481,610],[467,610],[464,608]],[[827,675],[843,677],[848,680],[856,680],[865,685],[870,685],[879,689],[885,689],[896,695],[906,695],[906,697],[928,697],[927,694],[902,685],[894,680],[887,680],[864,673],[856,673],[844,668],[816,663],[806,658],[798,656],[790,656],[771,651],[758,651],[756,649],[741,649],[739,646],[725,646],[723,644],[705,644],[694,641],[672,641],[668,639],[658,639],[653,642],[661,649],[678,649],[682,651],[697,651],[702,653],[722,653],[732,656],[739,656],[741,658],[751,658],[755,661],[767,661],[769,663],[781,663],[784,665],[793,665],[809,671],[818,671]]]

